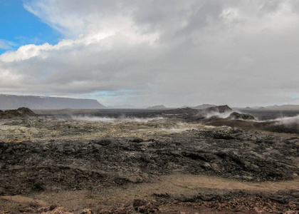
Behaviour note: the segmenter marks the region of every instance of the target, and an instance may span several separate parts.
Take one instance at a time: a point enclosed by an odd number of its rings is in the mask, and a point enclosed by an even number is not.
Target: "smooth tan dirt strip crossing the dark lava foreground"
[[[299,179],[282,182],[249,183],[225,178],[203,175],[167,175],[154,183],[141,183],[126,187],[95,187],[90,191],[63,191],[59,193],[40,193],[33,198],[55,204],[82,210],[83,208],[111,208],[132,203],[134,199],[154,199],[157,195],[172,195],[173,198],[182,195],[210,195],[225,193],[230,190],[243,190],[249,193],[276,193],[281,190],[299,190]]]

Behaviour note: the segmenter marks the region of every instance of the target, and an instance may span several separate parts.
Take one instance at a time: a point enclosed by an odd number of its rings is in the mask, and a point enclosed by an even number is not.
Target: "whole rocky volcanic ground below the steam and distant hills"
[[[298,213],[297,133],[171,114],[0,119],[0,213]]]

